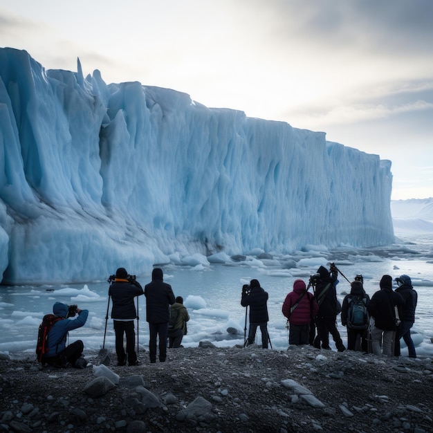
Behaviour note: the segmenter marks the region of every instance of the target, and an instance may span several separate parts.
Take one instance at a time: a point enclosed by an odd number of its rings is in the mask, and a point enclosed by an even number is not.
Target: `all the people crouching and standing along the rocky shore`
[[[331,334],[338,351],[346,348],[337,329],[337,317],[347,326],[347,348],[349,350],[371,351],[375,355],[400,356],[400,338],[407,345],[410,358],[416,358],[414,342],[410,329],[415,321],[418,295],[408,275],[396,278],[398,287],[392,289],[392,277],[383,275],[380,290],[369,298],[364,290],[362,275],[351,282],[351,291],[338,301],[335,286],[338,284],[338,268],[331,264],[329,270],[324,266],[310,277],[308,286],[302,279],[293,283],[293,291],[288,293],[282,306],[282,313],[288,320],[288,343],[290,345],[311,344],[318,349],[331,349]],[[309,288],[313,288],[310,293]],[[125,268],[118,268],[109,287],[109,300],[113,302],[111,318],[116,335],[116,355],[118,365],[138,365],[140,362],[135,350],[134,320],[138,311],[134,298],[146,297],[146,320],[149,323],[149,358],[165,362],[168,347],[181,346],[183,335],[187,333],[186,322],[190,320],[183,298],[174,297],[172,286],[163,281],[163,270],[154,268],[151,282],[145,286],[131,277]],[[110,302],[110,301],[109,301]],[[242,288],[241,305],[250,308],[249,330],[245,345],[255,341],[257,328],[261,331],[261,347],[268,349],[268,293],[257,279]],[[55,367],[82,368],[84,344],[77,340],[66,346],[68,331],[80,328],[86,323],[88,310],[75,308],[77,315],[73,320],[68,317],[68,306],[56,302],[53,306],[56,319],[46,335],[46,349],[42,363]],[[107,309],[108,315],[108,309]],[[247,318],[247,313],[246,313]],[[245,324],[246,325],[246,324]],[[245,329],[246,330],[246,329]],[[126,338],[126,350],[124,339]],[[158,342],[159,340],[159,342]],[[39,344],[39,343],[38,343]],[[157,351],[158,349],[158,351]]]

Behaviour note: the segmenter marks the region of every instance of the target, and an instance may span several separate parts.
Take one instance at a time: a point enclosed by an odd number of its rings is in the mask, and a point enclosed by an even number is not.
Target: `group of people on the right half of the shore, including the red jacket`
[[[288,343],[290,345],[311,344],[317,349],[331,349],[331,334],[338,351],[346,350],[337,329],[337,317],[347,327],[347,349],[360,350],[375,355],[400,356],[400,338],[407,345],[410,358],[416,358],[410,329],[415,322],[418,295],[408,275],[395,279],[398,287],[392,289],[392,277],[383,275],[380,290],[369,297],[363,286],[362,275],[351,282],[351,291],[338,301],[336,285],[338,268],[331,264],[328,271],[324,266],[312,275],[308,286],[302,279],[293,283],[282,306],[288,320]],[[308,289],[312,287],[313,293]],[[261,288],[257,279],[250,286],[243,286],[241,305],[250,307],[250,327],[246,344],[255,340],[257,327],[261,330],[261,342],[268,348],[267,309],[268,293]]]

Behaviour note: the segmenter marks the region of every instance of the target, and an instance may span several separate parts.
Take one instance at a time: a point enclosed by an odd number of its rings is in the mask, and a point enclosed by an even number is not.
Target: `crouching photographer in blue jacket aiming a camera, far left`
[[[77,340],[66,346],[66,338],[68,331],[81,328],[86,323],[89,310],[80,310],[75,305],[67,306],[62,302],[56,302],[53,305],[53,314],[55,315],[55,323],[48,331],[42,364],[61,368],[68,367],[68,365],[75,368],[86,367],[87,362],[82,358],[84,350],[82,340]],[[67,318],[75,315],[77,315],[75,319]]]

